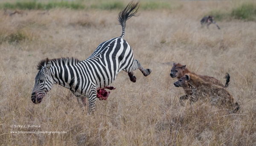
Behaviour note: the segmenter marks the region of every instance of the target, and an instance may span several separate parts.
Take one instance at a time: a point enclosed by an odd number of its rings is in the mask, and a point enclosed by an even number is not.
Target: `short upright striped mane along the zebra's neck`
[[[80,60],[78,60],[77,58],[74,58],[74,57],[71,57],[71,58],[70,57],[61,57],[61,58],[55,58],[55,59],[48,59],[48,58],[46,58],[46,59],[41,60],[38,63],[37,70],[41,70],[49,62],[55,62],[55,63],[58,63],[58,64],[60,64],[61,62],[63,64],[65,64],[65,63],[77,64],[77,63],[80,62]]]

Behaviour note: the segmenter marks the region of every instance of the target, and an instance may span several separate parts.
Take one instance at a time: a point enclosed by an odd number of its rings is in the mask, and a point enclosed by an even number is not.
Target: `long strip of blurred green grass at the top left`
[[[70,8],[70,9],[84,9],[85,6],[81,3],[67,2],[67,1],[49,1],[48,3],[41,3],[36,1],[17,1],[16,3],[3,3],[3,9],[20,9],[20,10],[49,10],[53,8]]]

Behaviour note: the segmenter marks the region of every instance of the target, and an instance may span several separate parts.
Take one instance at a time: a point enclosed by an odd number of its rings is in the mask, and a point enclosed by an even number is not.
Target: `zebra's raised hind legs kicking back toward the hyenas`
[[[130,80],[134,83],[136,82],[136,77],[134,76],[132,71],[134,71],[136,69],[140,69],[140,71],[143,73],[143,75],[145,77],[148,76],[152,72],[151,69],[144,69],[138,60],[134,60],[133,66],[131,66],[130,72],[128,72]]]

